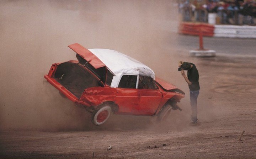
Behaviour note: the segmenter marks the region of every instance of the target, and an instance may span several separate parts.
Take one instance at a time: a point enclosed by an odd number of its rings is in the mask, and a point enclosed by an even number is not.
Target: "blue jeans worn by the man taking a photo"
[[[199,90],[190,91],[190,105],[191,105],[191,120],[197,122],[197,97],[199,95]]]

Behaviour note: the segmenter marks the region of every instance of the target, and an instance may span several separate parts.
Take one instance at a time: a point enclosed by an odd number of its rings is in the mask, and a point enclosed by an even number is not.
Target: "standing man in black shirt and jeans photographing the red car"
[[[187,70],[187,76],[185,75],[184,70]],[[178,71],[181,72],[181,75],[184,77],[185,81],[188,84],[190,89],[190,105],[192,110],[191,115],[191,124],[197,124],[197,97],[199,95],[199,73],[196,68],[196,65],[190,62],[179,62]]]

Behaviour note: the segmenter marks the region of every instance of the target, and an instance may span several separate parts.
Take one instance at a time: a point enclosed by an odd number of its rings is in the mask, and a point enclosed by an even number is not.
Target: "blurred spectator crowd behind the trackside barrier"
[[[256,0],[180,0],[183,21],[208,22],[214,13],[216,24],[255,25]]]

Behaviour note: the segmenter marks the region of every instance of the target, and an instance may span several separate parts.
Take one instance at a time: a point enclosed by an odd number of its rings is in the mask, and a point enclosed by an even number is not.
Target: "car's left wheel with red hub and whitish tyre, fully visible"
[[[104,124],[112,114],[109,105],[102,105],[92,113],[92,123],[96,126]]]

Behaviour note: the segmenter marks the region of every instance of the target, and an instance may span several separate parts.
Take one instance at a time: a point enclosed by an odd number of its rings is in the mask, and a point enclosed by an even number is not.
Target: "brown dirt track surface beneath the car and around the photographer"
[[[102,127],[80,131],[2,131],[0,157],[256,158],[255,59],[196,60],[203,75],[197,126],[188,124],[183,106],[162,124],[151,116],[113,115]]]

